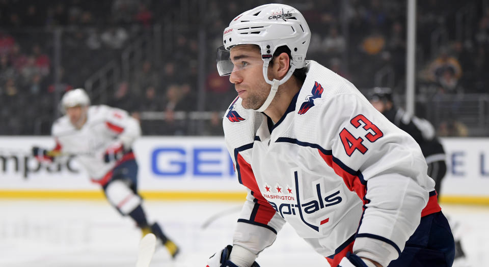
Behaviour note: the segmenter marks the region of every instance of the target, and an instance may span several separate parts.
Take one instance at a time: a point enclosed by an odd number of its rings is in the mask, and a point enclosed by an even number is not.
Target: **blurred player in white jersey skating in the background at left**
[[[141,135],[139,122],[126,111],[105,105],[90,106],[82,88],[68,91],[61,106],[66,113],[52,126],[56,147],[33,147],[39,160],[52,161],[72,155],[88,171],[92,182],[101,186],[107,200],[123,216],[131,217],[143,236],[154,233],[172,257],[178,247],[157,222],[149,223],[138,194],[138,164],[132,143]]]

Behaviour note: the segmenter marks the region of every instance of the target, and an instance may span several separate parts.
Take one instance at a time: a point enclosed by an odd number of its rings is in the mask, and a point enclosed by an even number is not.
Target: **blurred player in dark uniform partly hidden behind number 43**
[[[428,175],[436,183],[434,189],[441,193],[442,180],[447,173],[446,155],[443,145],[436,136],[433,125],[424,118],[406,113],[394,104],[393,92],[389,87],[375,87],[369,92],[370,103],[386,118],[404,132],[410,134],[421,147],[428,164]],[[452,229],[453,229],[452,225]],[[465,257],[460,240],[455,239],[455,259]]]

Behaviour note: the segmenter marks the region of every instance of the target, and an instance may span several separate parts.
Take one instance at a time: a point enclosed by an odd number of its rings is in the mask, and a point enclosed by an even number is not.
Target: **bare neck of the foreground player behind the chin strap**
[[[290,102],[295,94],[301,90],[302,85],[298,83],[295,77],[291,77],[287,82],[280,85],[274,100],[270,106],[265,109],[264,113],[271,118],[274,123],[277,123],[285,114]]]

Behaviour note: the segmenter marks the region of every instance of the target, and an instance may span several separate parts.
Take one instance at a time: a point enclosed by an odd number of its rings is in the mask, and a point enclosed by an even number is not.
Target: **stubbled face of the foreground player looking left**
[[[263,60],[254,45],[237,45],[231,48],[231,62],[234,64],[229,81],[234,83],[241,105],[246,109],[258,109],[263,105],[271,86],[263,78]]]

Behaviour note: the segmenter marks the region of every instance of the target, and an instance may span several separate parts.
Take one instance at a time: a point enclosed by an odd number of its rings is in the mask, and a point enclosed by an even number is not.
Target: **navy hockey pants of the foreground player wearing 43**
[[[437,212],[421,218],[401,255],[389,267],[450,267],[454,257],[452,231],[447,218]]]

